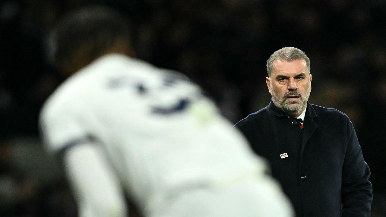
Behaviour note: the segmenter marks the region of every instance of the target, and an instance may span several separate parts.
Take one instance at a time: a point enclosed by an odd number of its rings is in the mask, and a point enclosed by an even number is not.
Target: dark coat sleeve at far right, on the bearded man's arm
[[[370,217],[372,185],[370,169],[352,123],[347,121],[347,149],[342,171],[342,217]]]

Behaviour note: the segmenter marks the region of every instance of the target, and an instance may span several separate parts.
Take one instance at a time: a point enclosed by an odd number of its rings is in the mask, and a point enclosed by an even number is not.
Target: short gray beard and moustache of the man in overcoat
[[[271,95],[272,95],[272,101],[278,107],[280,110],[282,110],[285,114],[287,114],[290,117],[298,117],[301,112],[303,112],[304,108],[307,106],[308,98],[311,94],[311,84],[305,93],[304,96],[297,90],[295,91],[289,91],[286,92],[283,96],[283,98],[280,98],[278,96],[278,93],[274,91],[274,89],[271,86]],[[300,97],[300,102],[298,101],[289,101],[287,102],[286,99],[289,95],[296,95]],[[296,105],[291,105],[291,103],[297,103]]]

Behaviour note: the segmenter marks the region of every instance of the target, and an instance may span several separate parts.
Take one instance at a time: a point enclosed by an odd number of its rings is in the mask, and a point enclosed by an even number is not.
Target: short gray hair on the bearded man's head
[[[267,60],[267,73],[268,77],[271,78],[271,73],[273,70],[273,61],[283,60],[287,62],[292,62],[295,59],[304,59],[306,61],[306,66],[308,72],[311,73],[311,62],[310,58],[301,50],[296,47],[283,47],[275,51]]]

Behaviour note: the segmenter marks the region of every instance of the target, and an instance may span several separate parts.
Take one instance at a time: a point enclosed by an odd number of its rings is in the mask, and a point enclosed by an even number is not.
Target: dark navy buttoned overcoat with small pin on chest
[[[303,122],[271,101],[235,126],[267,159],[297,217],[370,217],[369,166],[343,112],[307,103]]]

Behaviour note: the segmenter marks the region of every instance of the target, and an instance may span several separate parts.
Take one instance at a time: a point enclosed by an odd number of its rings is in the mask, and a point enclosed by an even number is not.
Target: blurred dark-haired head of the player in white
[[[48,38],[50,61],[66,76],[107,53],[134,56],[129,25],[117,11],[91,6],[70,12]]]

